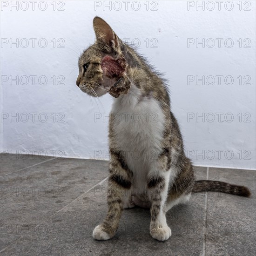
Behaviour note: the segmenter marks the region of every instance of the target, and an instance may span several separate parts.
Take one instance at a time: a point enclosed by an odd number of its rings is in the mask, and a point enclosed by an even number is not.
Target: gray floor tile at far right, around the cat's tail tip
[[[248,186],[252,197],[209,192],[205,255],[255,255],[255,177],[253,170],[209,168],[209,180]]]

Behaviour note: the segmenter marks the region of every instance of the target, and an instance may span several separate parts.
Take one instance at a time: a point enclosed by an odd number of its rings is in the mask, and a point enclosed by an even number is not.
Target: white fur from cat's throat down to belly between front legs
[[[126,152],[126,163],[134,173],[132,194],[146,193],[147,177],[157,171],[152,167],[156,153],[162,150],[165,117],[159,102],[152,97],[141,100],[140,90],[132,84],[127,95],[115,100],[111,114],[118,117],[113,127],[115,148]]]

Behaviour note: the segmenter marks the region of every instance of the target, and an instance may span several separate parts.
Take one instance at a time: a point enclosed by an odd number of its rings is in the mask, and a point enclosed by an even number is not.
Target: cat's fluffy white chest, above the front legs
[[[123,102],[122,102],[123,103]],[[112,108],[113,137],[110,146],[125,152],[133,169],[143,168],[161,152],[165,117],[155,99],[144,99],[127,104],[114,104]]]

